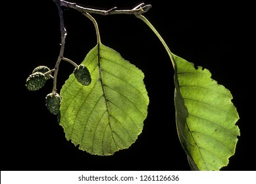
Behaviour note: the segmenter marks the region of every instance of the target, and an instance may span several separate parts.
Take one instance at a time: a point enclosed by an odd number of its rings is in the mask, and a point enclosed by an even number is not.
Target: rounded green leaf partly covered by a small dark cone
[[[82,85],[71,74],[61,89],[60,124],[66,139],[91,154],[127,149],[140,135],[147,116],[143,72],[101,43],[82,64],[90,71],[90,85]]]

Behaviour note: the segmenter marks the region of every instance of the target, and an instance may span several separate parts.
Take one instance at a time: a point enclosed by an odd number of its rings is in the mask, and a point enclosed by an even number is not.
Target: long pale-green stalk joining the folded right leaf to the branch
[[[172,66],[174,68],[175,66],[175,61],[174,58],[172,56],[172,53],[170,52],[170,49],[168,47],[168,45],[165,43],[165,40],[163,39],[163,37],[161,37],[161,35],[159,34],[159,32],[157,32],[157,30],[154,28],[154,26],[149,22],[149,20],[147,20],[147,18],[145,18],[145,16],[141,15],[141,14],[136,14],[136,17],[140,18],[140,20],[142,20],[143,22],[145,22],[145,24],[147,24],[147,26],[149,26],[149,28],[151,28],[151,30],[155,33],[155,35],[157,35],[157,37],[159,38],[159,40],[161,41],[161,43],[163,44],[163,46],[165,47],[165,50],[167,51],[170,60],[172,61]]]

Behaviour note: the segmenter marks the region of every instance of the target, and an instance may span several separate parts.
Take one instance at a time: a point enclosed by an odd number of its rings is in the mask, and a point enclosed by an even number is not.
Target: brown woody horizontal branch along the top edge
[[[117,7],[113,7],[112,9],[109,9],[107,11],[104,10],[98,10],[98,9],[89,9],[86,7],[81,7],[79,5],[76,5],[76,3],[70,3],[68,1],[60,0],[61,5],[64,7],[69,7],[72,9],[76,9],[77,11],[80,11],[82,13],[94,13],[94,14],[102,14],[102,15],[109,15],[109,14],[143,14],[144,12],[149,11],[151,9],[151,5],[145,5],[144,3],[140,3],[140,5],[137,5],[131,10],[118,10]]]

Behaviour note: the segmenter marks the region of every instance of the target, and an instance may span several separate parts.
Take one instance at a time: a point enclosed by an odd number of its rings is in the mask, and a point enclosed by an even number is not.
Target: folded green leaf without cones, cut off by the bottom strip
[[[192,170],[220,170],[234,155],[240,129],[232,95],[207,69],[173,55],[176,126]]]

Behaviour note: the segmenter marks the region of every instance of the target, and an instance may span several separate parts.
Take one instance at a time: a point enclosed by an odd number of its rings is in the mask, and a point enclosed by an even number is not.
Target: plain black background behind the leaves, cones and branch
[[[240,114],[241,136],[236,154],[222,170],[255,170],[255,84],[251,5],[195,5],[185,1],[72,1],[99,9],[131,9],[151,4],[149,21],[172,53],[203,66],[229,89]],[[133,15],[93,14],[101,41],[118,51],[145,74],[148,116],[138,140],[113,156],[93,156],[66,141],[57,117],[45,108],[53,83],[28,91],[26,78],[39,65],[54,68],[60,49],[59,16],[51,0],[15,2],[3,6],[1,170],[190,170],[176,132],[174,70],[153,32]],[[243,11],[243,12],[242,12]],[[245,12],[244,12],[245,11]],[[68,35],[64,57],[82,62],[96,45],[93,24],[78,11],[63,7]],[[6,43],[5,43],[6,41]],[[7,59],[8,58],[8,59]],[[74,70],[61,62],[57,87]],[[11,77],[10,77],[11,76]]]

